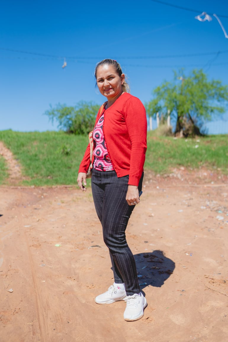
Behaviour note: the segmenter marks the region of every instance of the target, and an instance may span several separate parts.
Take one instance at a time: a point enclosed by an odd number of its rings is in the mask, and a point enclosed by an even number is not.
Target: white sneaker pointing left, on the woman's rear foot
[[[123,290],[120,289],[118,287],[118,284],[114,282],[113,285],[111,285],[108,288],[108,291],[106,291],[105,293],[99,294],[95,298],[95,302],[97,304],[111,304],[119,300],[124,300],[125,298],[126,298],[125,289]]]

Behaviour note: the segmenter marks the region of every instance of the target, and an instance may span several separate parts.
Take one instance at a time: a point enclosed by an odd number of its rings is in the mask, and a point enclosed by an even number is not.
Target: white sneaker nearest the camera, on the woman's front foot
[[[123,314],[123,318],[126,321],[134,321],[143,317],[144,309],[147,306],[147,301],[142,292],[128,296],[124,300],[127,303]]]

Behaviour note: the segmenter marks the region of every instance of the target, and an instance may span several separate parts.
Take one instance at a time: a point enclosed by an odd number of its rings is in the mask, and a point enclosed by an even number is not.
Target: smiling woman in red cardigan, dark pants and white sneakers
[[[140,202],[146,154],[147,119],[142,102],[129,93],[117,61],[106,59],[95,69],[99,91],[107,98],[100,108],[94,130],[92,194],[103,237],[112,263],[114,284],[95,298],[97,304],[126,301],[124,319],[134,321],[144,314],[146,298],[140,292],[134,256],[125,229]],[[79,167],[78,185],[86,188],[90,145]],[[83,185],[84,184],[84,185]]]

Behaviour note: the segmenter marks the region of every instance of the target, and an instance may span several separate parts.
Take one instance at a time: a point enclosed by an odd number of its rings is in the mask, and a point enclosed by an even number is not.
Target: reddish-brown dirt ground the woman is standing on
[[[228,177],[145,173],[126,232],[148,306],[97,305],[113,283],[90,188],[0,187],[1,342],[228,338]]]

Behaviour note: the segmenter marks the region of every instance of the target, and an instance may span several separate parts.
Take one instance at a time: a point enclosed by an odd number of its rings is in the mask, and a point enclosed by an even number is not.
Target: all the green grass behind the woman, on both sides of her
[[[148,132],[145,170],[169,173],[174,167],[207,167],[228,173],[227,135],[200,139],[158,137]],[[88,136],[60,132],[0,131],[0,141],[22,165],[23,185],[75,185]],[[7,184],[6,163],[0,156],[0,184]]]

